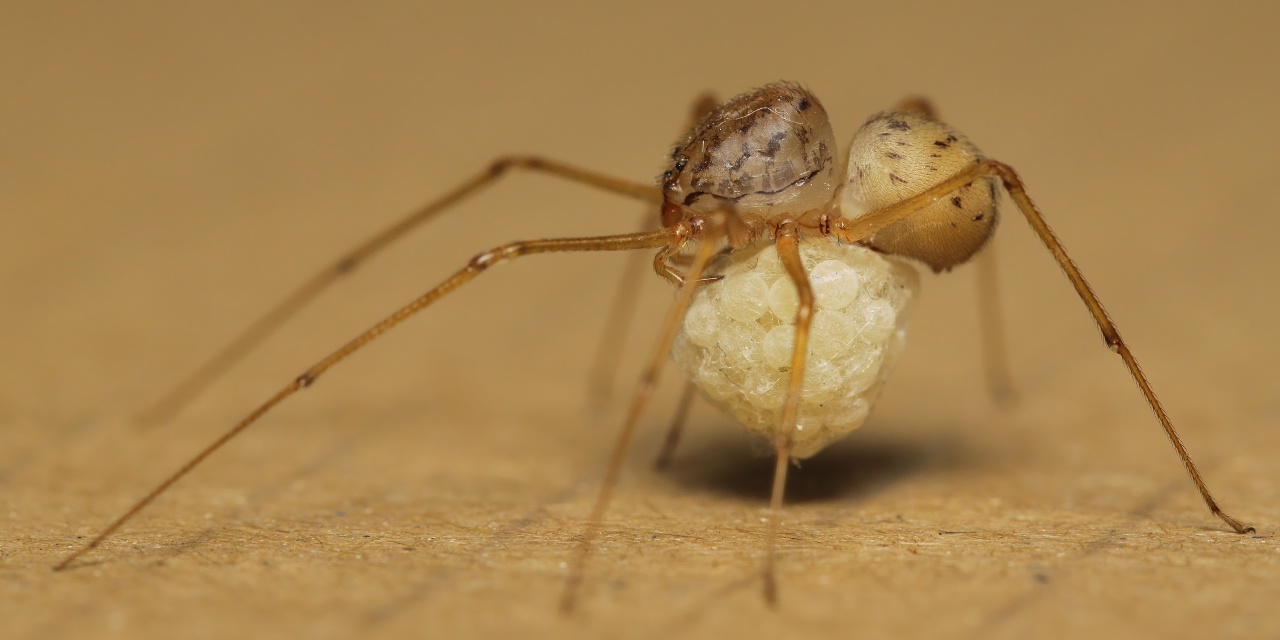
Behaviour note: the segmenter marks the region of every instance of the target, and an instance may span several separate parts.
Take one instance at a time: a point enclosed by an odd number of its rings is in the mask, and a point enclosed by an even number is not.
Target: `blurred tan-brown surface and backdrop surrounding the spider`
[[[1280,635],[1274,4],[355,5],[0,5],[0,635]],[[133,421],[353,239],[504,152],[648,180],[694,95],[778,78],[813,88],[844,140],[927,93],[1016,166],[1258,534],[1207,513],[1010,216],[1020,402],[997,410],[978,375],[972,268],[925,276],[870,422],[794,475],[777,612],[758,580],[768,461],[703,406],[675,468],[648,466],[669,375],[582,611],[556,614],[618,425],[621,402],[584,408],[618,256],[486,275],[49,572],[470,255],[628,230],[640,210],[513,177],[172,424]],[[657,279],[640,296],[625,376],[669,300]]]

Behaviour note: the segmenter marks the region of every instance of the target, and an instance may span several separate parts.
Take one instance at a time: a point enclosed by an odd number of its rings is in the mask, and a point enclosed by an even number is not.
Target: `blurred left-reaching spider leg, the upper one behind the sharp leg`
[[[251,324],[243,333],[236,337],[229,344],[218,351],[214,357],[192,371],[169,393],[161,397],[151,407],[146,408],[138,417],[143,424],[155,424],[168,420],[178,410],[196,398],[210,383],[218,379],[227,369],[239,361],[253,349],[264,338],[293,317],[302,307],[311,302],[330,284],[353,271],[365,260],[385,248],[388,244],[401,238],[413,228],[430,220],[436,214],[458,204],[467,196],[488,187],[511,169],[531,169],[550,175],[564,178],[572,182],[611,191],[622,196],[628,196],[644,201],[658,202],[662,195],[655,187],[621,180],[595,172],[579,169],[554,160],[536,156],[509,156],[495,160],[488,169],[480,172],[471,179],[463,182],[453,191],[440,198],[429,202],[421,209],[412,211],[396,224],[383,229],[356,248],[343,253],[337,261],[320,273],[312,275],[301,287],[288,294],[275,305],[262,317]]]

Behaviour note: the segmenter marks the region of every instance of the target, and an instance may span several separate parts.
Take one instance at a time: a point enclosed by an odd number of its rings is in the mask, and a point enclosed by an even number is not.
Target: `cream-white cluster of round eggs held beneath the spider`
[[[800,244],[817,312],[792,457],[856,429],[906,340],[919,276],[906,262],[826,239]],[[672,347],[676,366],[769,442],[781,429],[797,296],[772,246],[741,251],[699,288]]]

